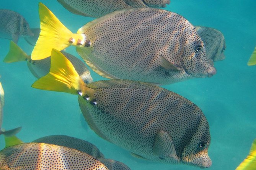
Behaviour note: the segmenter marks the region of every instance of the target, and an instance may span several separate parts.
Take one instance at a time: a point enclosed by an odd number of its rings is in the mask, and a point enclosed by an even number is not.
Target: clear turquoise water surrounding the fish
[[[30,27],[39,27],[38,2],[44,3],[72,32],[93,18],[70,13],[55,0],[1,0],[0,8],[24,16]],[[163,86],[182,95],[204,112],[210,125],[209,156],[212,170],[233,170],[246,157],[256,138],[256,66],[247,66],[256,45],[255,0],[172,0],[165,8],[181,14],[194,25],[220,30],[226,39],[226,59],[215,63],[217,74]],[[0,39],[0,58],[10,40]],[[28,54],[33,47],[20,38]],[[75,48],[67,52],[77,56]],[[124,162],[132,170],[193,170],[188,165],[168,165],[135,159],[129,152],[99,138],[80,119],[77,96],[31,88],[36,80],[26,63],[0,62],[0,82],[5,90],[3,126],[22,126],[18,137],[30,142],[47,135],[69,135],[95,144],[106,158]],[[91,71],[94,81],[103,78]],[[0,147],[4,146],[0,136]]]

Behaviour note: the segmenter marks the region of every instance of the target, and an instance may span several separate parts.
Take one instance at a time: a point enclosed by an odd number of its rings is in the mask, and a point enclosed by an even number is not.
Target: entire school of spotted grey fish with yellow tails
[[[0,9],[0,38],[10,39],[5,63],[26,61],[36,77],[31,87],[78,95],[83,117],[99,137],[139,159],[209,168],[209,123],[202,110],[159,85],[212,77],[214,62],[225,59],[225,37],[217,29],[193,26],[163,10],[170,0],[57,0],[74,14],[96,18],[72,33],[39,3],[40,28],[19,13]],[[34,46],[27,55],[23,37]],[[65,52],[75,46],[93,71],[110,80],[93,82],[86,64]],[[256,47],[248,66],[256,64]],[[189,85],[188,85],[189,86]],[[4,130],[0,83],[0,169],[130,170],[106,159],[92,143],[51,135],[23,143],[21,127]],[[65,106],[64,106],[65,107]],[[236,170],[256,168],[256,141]]]

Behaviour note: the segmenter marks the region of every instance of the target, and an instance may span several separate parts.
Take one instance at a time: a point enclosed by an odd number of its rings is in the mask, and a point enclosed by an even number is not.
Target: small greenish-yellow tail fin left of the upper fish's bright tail
[[[5,63],[13,63],[18,61],[26,61],[30,59],[29,56],[21,50],[21,48],[13,41],[10,41],[10,50],[9,53],[3,59]]]

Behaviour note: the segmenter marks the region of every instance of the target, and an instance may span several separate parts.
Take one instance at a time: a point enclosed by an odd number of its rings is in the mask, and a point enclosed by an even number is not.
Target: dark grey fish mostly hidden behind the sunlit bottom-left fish
[[[91,144],[85,140],[80,140],[78,138],[65,135],[51,135],[39,138],[33,142],[55,144],[58,146],[77,149],[78,151],[85,152],[86,154],[98,159],[101,163],[108,167],[109,170],[130,170],[130,168],[122,162],[113,159],[105,159],[104,155],[94,144]]]

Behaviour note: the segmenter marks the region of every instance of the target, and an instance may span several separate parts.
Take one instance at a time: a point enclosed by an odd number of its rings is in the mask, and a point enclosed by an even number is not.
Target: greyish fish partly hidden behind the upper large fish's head
[[[206,51],[206,58],[210,63],[225,59],[226,49],[225,37],[217,29],[203,26],[196,26],[198,35],[202,38]]]

